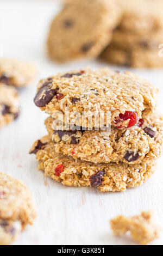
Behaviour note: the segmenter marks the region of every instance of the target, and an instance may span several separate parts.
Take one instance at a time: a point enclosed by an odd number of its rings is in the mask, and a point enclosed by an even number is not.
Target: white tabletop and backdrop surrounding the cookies
[[[103,194],[93,188],[66,187],[54,182],[37,171],[35,156],[28,154],[33,142],[46,134],[43,125],[46,114],[33,103],[39,79],[58,71],[106,65],[97,60],[82,60],[66,65],[57,65],[48,60],[46,36],[49,24],[59,9],[60,3],[57,1],[0,2],[0,44],[4,56],[30,60],[39,70],[36,81],[20,90],[20,118],[0,132],[0,171],[22,180],[29,187],[37,209],[33,227],[28,226],[15,244],[134,245],[128,236],[114,237],[109,220],[119,214],[129,216],[141,210],[155,209],[163,227],[161,159],[155,174],[144,185],[126,192]],[[117,70],[117,67],[111,68]],[[162,70],[134,72],[160,89],[159,112],[162,112]],[[152,244],[162,245],[163,235]]]

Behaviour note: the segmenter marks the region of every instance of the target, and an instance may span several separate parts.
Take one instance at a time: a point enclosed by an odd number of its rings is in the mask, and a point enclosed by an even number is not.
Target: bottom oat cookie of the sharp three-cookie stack
[[[67,186],[97,187],[101,192],[137,187],[151,177],[156,168],[156,161],[147,158],[139,164],[74,160],[56,153],[54,142],[48,136],[36,141],[30,154],[36,154],[39,169],[50,178]]]

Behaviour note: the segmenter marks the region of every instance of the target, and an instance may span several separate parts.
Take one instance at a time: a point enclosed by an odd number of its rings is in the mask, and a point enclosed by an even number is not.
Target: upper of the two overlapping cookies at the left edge
[[[0,82],[15,87],[24,87],[32,82],[36,69],[29,63],[15,59],[0,58]]]

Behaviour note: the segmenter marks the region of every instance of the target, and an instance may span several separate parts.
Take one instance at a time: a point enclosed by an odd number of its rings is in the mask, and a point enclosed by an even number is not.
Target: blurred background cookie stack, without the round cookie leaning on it
[[[121,1],[123,17],[111,44],[102,53],[109,63],[133,68],[161,68],[163,57],[163,2],[160,0]]]

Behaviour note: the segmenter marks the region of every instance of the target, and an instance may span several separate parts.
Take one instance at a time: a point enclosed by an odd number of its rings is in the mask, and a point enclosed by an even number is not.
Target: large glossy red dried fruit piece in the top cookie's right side
[[[126,121],[128,119],[130,119],[130,120],[129,120],[128,126],[126,128],[132,127],[137,123],[137,120],[138,120],[137,113],[134,111],[126,111],[124,114],[119,115],[119,118],[115,120],[115,124],[118,124],[121,121]],[[125,126],[123,126],[123,125],[117,126],[117,128],[123,128],[123,127],[125,127]]]

